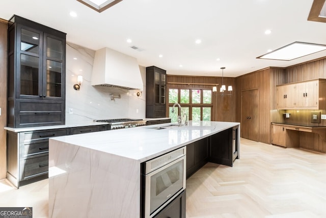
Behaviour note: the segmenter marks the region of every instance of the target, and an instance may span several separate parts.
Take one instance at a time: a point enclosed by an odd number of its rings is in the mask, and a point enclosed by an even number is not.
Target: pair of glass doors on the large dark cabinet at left
[[[65,39],[17,25],[16,43],[16,98],[62,99]]]

